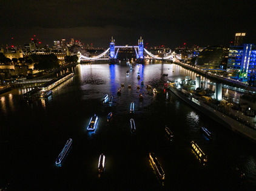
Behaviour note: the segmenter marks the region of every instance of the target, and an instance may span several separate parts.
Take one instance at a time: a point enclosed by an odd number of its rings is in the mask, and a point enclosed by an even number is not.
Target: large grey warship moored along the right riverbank
[[[241,135],[253,143],[256,143],[254,116],[246,116],[245,112],[238,111],[235,107],[230,107],[229,111],[223,111],[223,107],[220,104],[217,105],[210,96],[197,96],[198,94],[184,89],[186,86],[178,86],[180,85],[178,82],[168,82],[168,85],[168,89],[170,89],[173,94],[193,108],[197,109],[208,117],[211,117],[213,120],[217,121],[223,126],[226,126],[226,128],[231,129],[238,135]],[[211,92],[206,91],[206,93],[211,95]],[[240,97],[240,103],[243,102],[242,98],[243,96]]]

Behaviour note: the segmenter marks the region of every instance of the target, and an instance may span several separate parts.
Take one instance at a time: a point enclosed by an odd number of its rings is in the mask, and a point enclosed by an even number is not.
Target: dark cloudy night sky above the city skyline
[[[70,38],[93,47],[135,45],[140,36],[149,46],[186,43],[229,45],[235,33],[256,44],[255,1],[0,1],[0,46],[42,45]]]

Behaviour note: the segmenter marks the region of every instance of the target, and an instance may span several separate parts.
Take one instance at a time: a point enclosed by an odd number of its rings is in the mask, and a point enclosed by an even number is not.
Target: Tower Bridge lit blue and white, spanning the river
[[[138,40],[138,45],[135,46],[115,46],[115,40],[111,39],[110,41],[110,47],[104,51],[104,53],[99,54],[98,56],[95,57],[86,57],[83,56],[81,54],[79,54],[79,60],[109,60],[110,63],[117,63],[118,59],[118,51],[120,50],[120,48],[132,48],[135,53],[136,53],[136,62],[137,63],[144,63],[144,59],[157,59],[157,60],[173,60],[173,59],[180,59],[180,58],[176,58],[176,55],[174,53],[170,54],[169,56],[166,57],[158,57],[153,55],[152,53],[150,53],[149,51],[146,50],[146,48],[144,48],[144,42],[143,39]],[[103,58],[105,56],[105,54],[109,53],[109,58]],[[145,54],[144,54],[145,53]],[[147,54],[147,57],[144,57],[144,55]]]

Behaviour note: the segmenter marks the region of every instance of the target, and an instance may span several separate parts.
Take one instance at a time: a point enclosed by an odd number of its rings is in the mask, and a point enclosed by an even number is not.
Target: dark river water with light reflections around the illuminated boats
[[[48,99],[21,104],[19,94],[29,87],[1,95],[0,190],[255,190],[255,144],[172,92],[166,100],[167,77],[163,74],[175,80],[195,79],[195,73],[175,64],[151,62],[130,70],[125,61],[83,64],[72,71],[75,76],[53,89]],[[141,80],[144,86],[136,89]],[[158,93],[153,94],[146,85],[157,88]],[[103,104],[105,94],[113,96],[112,105]],[[240,94],[230,94],[239,99]],[[133,114],[129,112],[131,102],[135,103]],[[113,117],[107,121],[109,112]],[[95,132],[88,132],[94,114],[99,123]],[[130,131],[130,118],[135,120],[135,134]],[[173,132],[172,141],[165,134],[166,125]],[[212,141],[200,132],[201,126],[214,134]],[[69,138],[73,140],[69,154],[56,166]],[[208,156],[206,164],[192,151],[192,140]],[[150,163],[149,152],[155,153],[163,167],[163,182]],[[102,153],[106,169],[99,175]]]

